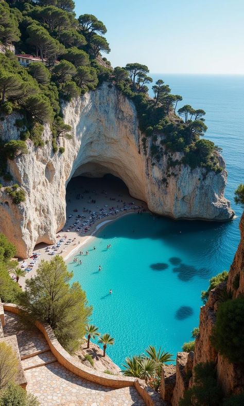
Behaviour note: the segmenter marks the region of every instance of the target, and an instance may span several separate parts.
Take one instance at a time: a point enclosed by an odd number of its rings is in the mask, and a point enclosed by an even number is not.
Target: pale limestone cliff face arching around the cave
[[[11,198],[0,191],[0,232],[15,244],[20,257],[29,255],[40,242],[55,242],[56,233],[65,223],[65,189],[72,176],[101,177],[111,173],[124,180],[130,194],[146,201],[151,211],[176,219],[233,217],[230,202],[223,195],[225,169],[205,175],[200,168],[190,170],[178,165],[172,169],[175,175],[167,178],[166,186],[162,179],[166,177],[167,157],[152,165],[149,154],[144,154],[135,107],[114,87],[104,83],[64,105],[63,113],[75,134],[72,140],[61,138],[64,154],[53,153],[50,129],[45,126],[45,146],[34,147],[27,140],[28,154],[8,163],[14,183],[25,190],[26,201],[13,205]],[[18,137],[13,122],[13,117],[0,122],[2,138]],[[179,153],[172,155],[173,160],[177,158]]]

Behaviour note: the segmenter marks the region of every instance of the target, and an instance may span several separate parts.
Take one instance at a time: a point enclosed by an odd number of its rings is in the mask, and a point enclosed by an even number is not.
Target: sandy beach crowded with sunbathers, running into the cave
[[[20,278],[20,285],[24,288],[25,280],[36,275],[41,260],[49,261],[58,254],[67,261],[81,247],[84,250],[84,245],[109,222],[141,211],[148,211],[146,203],[131,197],[125,183],[118,178],[71,179],[66,189],[66,223],[57,232],[56,244],[38,244],[33,251],[37,254],[35,257],[20,261],[20,266],[27,271],[26,276]]]

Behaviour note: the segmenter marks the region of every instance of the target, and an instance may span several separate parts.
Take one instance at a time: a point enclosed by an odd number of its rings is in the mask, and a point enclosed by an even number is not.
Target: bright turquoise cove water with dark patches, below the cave
[[[176,222],[149,213],[128,214],[82,247],[89,251],[76,255],[82,265],[69,260],[73,280],[80,282],[93,306],[91,322],[115,338],[108,348],[115,363],[121,366],[149,344],[161,345],[176,357],[198,326],[201,291],[213,275],[229,270],[233,246],[227,236],[232,229],[232,222]]]

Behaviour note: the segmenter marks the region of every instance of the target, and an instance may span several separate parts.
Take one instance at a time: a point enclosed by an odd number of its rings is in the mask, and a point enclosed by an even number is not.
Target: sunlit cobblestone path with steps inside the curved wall
[[[27,329],[18,315],[5,312],[4,336],[16,335],[27,379],[27,391],[42,406],[144,406],[135,387],[111,389],[79,378],[60,365],[33,325]]]

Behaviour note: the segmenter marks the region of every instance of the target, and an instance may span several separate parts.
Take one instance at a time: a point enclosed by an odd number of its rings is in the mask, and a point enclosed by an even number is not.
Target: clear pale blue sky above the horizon
[[[244,0],[75,0],[107,27],[112,66],[244,74]]]

